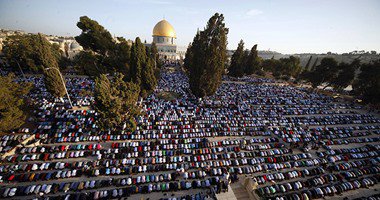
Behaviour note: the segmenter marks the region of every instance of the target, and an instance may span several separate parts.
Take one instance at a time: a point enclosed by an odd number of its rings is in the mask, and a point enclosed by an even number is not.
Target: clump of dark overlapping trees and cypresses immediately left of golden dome
[[[122,38],[114,40],[111,34],[98,22],[80,17],[77,26],[82,33],[75,37],[85,51],[76,58],[77,69],[96,77],[103,73],[122,73],[126,81],[139,85],[141,96],[146,96],[157,85],[155,65],[158,63],[157,46],[145,47],[140,38],[132,46]]]

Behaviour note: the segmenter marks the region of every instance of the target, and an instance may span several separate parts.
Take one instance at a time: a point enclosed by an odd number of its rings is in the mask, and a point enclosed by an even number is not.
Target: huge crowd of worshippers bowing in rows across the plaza
[[[1,154],[14,150],[1,158],[0,195],[109,199],[162,192],[173,193],[162,199],[207,199],[249,177],[264,199],[317,199],[378,184],[378,118],[272,79],[223,80],[215,95],[200,99],[185,74],[163,71],[140,101],[143,114],[130,132],[100,131],[94,110],[68,110],[68,100],[52,98],[42,78],[20,79],[36,86],[28,103],[38,126],[0,137]],[[74,106],[94,102],[86,92],[94,88],[91,79],[66,82]],[[165,100],[162,92],[178,98]],[[31,136],[38,145],[21,144]],[[335,148],[349,144],[357,146]],[[200,192],[176,194],[182,190]]]

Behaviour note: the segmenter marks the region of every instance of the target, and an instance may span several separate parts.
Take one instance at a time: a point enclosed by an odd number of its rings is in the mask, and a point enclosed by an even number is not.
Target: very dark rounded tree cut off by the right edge
[[[354,92],[367,103],[380,103],[380,60],[362,64],[354,82]]]

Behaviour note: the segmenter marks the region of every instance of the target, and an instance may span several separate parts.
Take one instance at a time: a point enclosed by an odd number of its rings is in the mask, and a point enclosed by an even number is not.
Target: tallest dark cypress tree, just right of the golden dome
[[[206,28],[194,37],[191,54],[185,60],[189,69],[189,83],[197,97],[210,96],[222,83],[222,75],[227,59],[228,29],[223,14],[215,13]]]

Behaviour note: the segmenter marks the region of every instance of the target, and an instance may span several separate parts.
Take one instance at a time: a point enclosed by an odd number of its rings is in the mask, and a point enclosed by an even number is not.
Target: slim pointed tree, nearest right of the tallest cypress
[[[232,54],[229,75],[234,77],[242,77],[245,69],[244,42],[240,40],[236,51]]]

